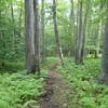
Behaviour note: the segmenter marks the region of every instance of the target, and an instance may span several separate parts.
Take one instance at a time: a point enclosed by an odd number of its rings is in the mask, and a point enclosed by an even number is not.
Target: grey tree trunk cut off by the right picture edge
[[[102,77],[98,80],[98,82],[102,84],[108,85],[108,2],[107,2],[107,12],[106,13],[107,13],[107,18],[106,18],[105,37],[104,37]]]

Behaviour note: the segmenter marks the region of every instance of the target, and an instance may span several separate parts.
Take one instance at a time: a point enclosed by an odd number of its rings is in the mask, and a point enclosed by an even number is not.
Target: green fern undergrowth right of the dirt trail
[[[100,59],[87,58],[84,65],[76,65],[71,58],[65,59],[65,67],[58,67],[70,84],[68,108],[108,108],[108,86],[99,85],[96,79],[100,72]]]

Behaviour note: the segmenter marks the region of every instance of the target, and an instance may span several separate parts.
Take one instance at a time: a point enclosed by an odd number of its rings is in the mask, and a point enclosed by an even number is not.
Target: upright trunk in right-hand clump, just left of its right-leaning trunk
[[[81,49],[82,49],[82,0],[79,0],[79,10],[80,10],[80,16],[79,16],[79,35],[78,35],[78,41],[77,41],[77,52],[76,52],[76,64],[81,63]]]

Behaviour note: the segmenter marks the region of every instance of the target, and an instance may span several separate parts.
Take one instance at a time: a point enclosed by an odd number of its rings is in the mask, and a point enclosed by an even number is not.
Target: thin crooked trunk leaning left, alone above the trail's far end
[[[55,0],[53,0],[53,22],[54,22],[54,31],[55,31],[55,39],[56,39],[56,44],[57,44],[58,56],[60,59],[60,64],[64,65],[63,51],[62,51],[59,33],[58,33],[58,26],[57,26],[56,1]]]

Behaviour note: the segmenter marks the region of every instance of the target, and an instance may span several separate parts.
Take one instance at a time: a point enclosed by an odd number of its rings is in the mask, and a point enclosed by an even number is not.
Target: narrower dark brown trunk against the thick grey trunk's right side
[[[39,4],[38,0],[33,0],[35,12],[35,65],[36,71],[40,72],[40,41],[39,41]]]

